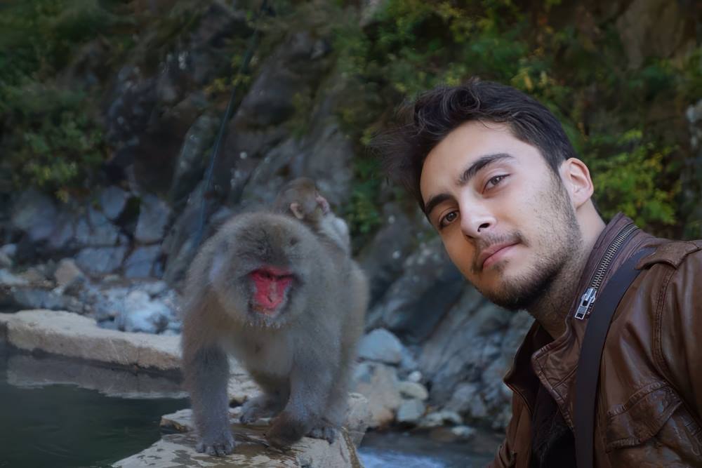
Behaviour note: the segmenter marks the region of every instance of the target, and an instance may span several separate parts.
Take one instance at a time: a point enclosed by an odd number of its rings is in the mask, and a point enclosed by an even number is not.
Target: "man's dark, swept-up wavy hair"
[[[541,152],[555,174],[563,161],[576,156],[560,122],[544,105],[494,81],[470,79],[461,86],[439,86],[421,94],[399,115],[411,121],[378,138],[373,146],[380,151],[390,178],[404,186],[422,210],[419,180],[424,161],[446,135],[465,122],[507,124],[515,138]]]

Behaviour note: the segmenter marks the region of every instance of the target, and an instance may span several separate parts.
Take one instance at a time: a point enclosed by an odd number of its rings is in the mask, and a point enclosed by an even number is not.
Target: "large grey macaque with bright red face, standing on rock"
[[[184,300],[183,373],[199,452],[235,445],[229,354],[263,390],[244,403],[241,422],[274,416],[266,438],[276,447],[305,435],[334,440],[368,302],[350,257],[293,216],[237,215],[194,258]]]

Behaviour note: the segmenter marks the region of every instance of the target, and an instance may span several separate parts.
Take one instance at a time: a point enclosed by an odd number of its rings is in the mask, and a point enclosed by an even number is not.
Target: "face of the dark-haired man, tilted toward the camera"
[[[502,307],[538,300],[581,243],[560,175],[500,123],[470,121],[446,135],[420,190],[453,263]]]

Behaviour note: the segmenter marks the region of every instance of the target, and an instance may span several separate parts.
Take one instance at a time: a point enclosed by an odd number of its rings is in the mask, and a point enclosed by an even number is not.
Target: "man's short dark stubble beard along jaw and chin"
[[[522,232],[515,232],[513,238],[519,240],[527,248],[534,246],[548,246],[548,250],[537,252],[534,265],[529,267],[529,272],[517,276],[503,277],[500,289],[482,290],[477,288],[482,295],[494,304],[505,309],[516,311],[534,308],[545,297],[552,294],[552,288],[557,279],[564,276],[564,269],[577,264],[581,253],[579,246],[583,236],[576,219],[575,210],[569,203],[569,196],[561,180],[552,178],[550,190],[541,192],[536,197],[536,202],[543,202],[543,209],[538,213],[549,213],[550,216],[539,216],[535,222],[542,229],[538,236],[525,239]],[[557,228],[557,231],[552,229]],[[548,234],[547,234],[548,233]],[[498,274],[502,274],[509,266],[509,262],[495,265]],[[570,275],[568,275],[570,276]]]

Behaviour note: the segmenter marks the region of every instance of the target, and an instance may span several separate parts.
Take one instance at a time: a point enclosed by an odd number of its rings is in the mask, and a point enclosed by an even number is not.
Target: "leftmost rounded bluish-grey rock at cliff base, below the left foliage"
[[[27,232],[29,239],[37,242],[51,236],[57,216],[58,211],[48,196],[29,189],[15,201],[11,221],[14,227]]]

